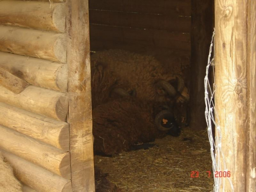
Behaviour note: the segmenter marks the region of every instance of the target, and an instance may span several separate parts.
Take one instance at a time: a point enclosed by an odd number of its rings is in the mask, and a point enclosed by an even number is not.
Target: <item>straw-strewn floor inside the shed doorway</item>
[[[148,150],[95,156],[95,165],[123,192],[210,192],[213,173],[207,131],[183,128]],[[193,172],[192,171],[198,171]],[[208,172],[211,171],[210,176]],[[197,173],[199,173],[197,177]]]

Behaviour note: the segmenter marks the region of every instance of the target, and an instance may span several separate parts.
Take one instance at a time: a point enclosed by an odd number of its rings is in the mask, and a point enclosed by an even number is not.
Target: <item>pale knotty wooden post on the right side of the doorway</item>
[[[249,2],[215,1],[215,104],[223,152],[223,156],[217,156],[222,169],[217,171],[225,171],[226,164],[234,192],[255,192],[255,1],[251,5]],[[253,4],[254,7],[251,7]],[[247,19],[251,13],[247,12],[247,8],[254,10],[254,17],[251,17],[254,22],[250,23],[254,39],[248,37],[250,26]],[[248,45],[254,47],[249,50]],[[251,58],[248,57],[249,52]],[[218,146],[218,140],[216,142]],[[218,150],[217,147],[216,152]],[[222,190],[232,191],[227,178],[222,181]]]

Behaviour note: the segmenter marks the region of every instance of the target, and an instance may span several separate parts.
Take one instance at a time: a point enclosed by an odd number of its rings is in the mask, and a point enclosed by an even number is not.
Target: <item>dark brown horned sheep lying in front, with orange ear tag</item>
[[[179,128],[172,125],[162,126],[164,131],[157,130],[152,109],[150,104],[136,98],[113,100],[93,109],[95,153],[111,156],[121,151],[129,151],[137,143],[152,142],[156,137],[164,136],[168,130],[171,135],[180,134]],[[156,114],[157,121],[161,121],[165,115],[165,112],[160,111]],[[172,121],[171,117],[169,119]]]

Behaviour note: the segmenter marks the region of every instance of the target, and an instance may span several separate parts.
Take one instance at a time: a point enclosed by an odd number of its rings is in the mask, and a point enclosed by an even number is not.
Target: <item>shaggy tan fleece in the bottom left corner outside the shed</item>
[[[12,167],[0,152],[0,192],[22,192],[22,185],[14,177]]]

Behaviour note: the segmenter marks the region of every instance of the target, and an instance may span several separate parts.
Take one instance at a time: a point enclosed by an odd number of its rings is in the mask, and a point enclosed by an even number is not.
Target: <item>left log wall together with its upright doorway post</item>
[[[87,21],[86,1],[0,1],[0,151],[24,192],[95,190]]]

